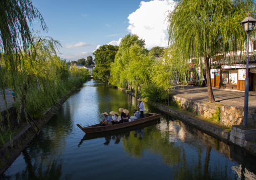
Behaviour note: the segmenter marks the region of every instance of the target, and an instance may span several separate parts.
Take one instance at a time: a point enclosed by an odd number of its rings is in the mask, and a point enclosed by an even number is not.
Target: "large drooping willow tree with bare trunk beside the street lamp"
[[[239,22],[254,13],[252,0],[178,0],[168,15],[170,61],[185,81],[189,61],[206,69],[209,102],[215,102],[211,86],[211,59],[244,48],[245,34]],[[253,36],[253,33],[251,33]],[[191,62],[191,61],[190,61]],[[202,66],[204,64],[205,67]]]

